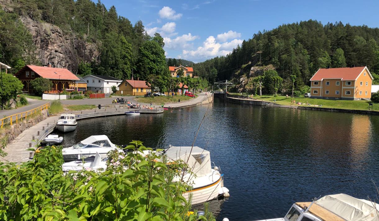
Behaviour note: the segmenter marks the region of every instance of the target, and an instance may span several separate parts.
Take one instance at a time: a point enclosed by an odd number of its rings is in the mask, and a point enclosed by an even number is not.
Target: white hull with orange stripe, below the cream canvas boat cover
[[[219,196],[219,190],[223,186],[222,177],[220,177],[216,182],[213,182],[204,187],[194,188],[183,193],[183,197],[188,201],[189,196],[192,194],[191,204],[200,204],[213,199],[217,199]]]

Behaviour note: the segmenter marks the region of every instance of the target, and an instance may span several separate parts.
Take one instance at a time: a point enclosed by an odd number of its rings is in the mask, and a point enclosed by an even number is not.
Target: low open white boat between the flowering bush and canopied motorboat
[[[83,160],[75,160],[67,163],[63,163],[63,171],[80,171],[80,170],[105,170],[106,161],[108,158],[101,158],[100,154],[96,152],[96,156],[87,157]]]

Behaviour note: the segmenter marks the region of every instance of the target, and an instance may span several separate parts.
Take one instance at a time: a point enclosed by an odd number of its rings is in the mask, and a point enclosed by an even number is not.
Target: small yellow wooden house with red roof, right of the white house
[[[139,96],[145,95],[146,92],[151,91],[150,84],[146,84],[146,81],[139,80],[125,80],[119,84],[120,90],[117,90],[116,95],[132,95]]]

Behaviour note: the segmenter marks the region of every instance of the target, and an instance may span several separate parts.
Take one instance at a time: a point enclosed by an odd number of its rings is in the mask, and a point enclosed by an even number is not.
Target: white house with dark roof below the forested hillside
[[[101,93],[107,94],[112,93],[112,86],[116,86],[117,90],[119,90],[118,85],[122,82],[120,79],[104,75],[87,75],[83,79],[87,81],[87,90],[101,91]]]

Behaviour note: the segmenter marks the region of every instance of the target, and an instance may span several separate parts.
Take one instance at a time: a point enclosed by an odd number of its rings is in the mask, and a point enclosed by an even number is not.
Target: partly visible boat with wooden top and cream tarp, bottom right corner
[[[284,218],[260,221],[374,221],[379,220],[379,204],[340,193],[313,202],[296,202]]]

